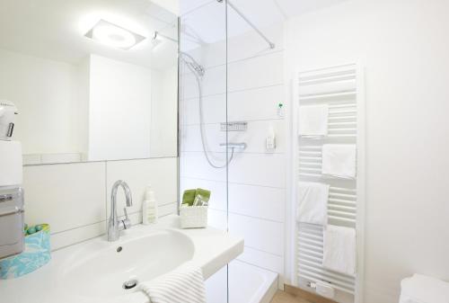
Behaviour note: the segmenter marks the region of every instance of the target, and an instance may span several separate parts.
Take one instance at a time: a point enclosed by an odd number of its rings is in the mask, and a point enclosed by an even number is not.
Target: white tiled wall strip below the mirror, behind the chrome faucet
[[[100,236],[106,231],[110,188],[117,180],[128,183],[134,224],[142,221],[145,186],[154,187],[160,216],[176,212],[178,192],[176,157],[61,165],[24,166],[25,221],[48,223],[52,249]],[[119,215],[125,202],[118,193]]]

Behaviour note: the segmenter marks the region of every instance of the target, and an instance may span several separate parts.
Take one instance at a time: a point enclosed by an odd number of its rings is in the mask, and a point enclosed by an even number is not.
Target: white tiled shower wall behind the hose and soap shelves
[[[198,86],[194,76],[184,70],[180,191],[209,189],[209,224],[225,228],[227,220],[229,231],[245,239],[245,252],[238,259],[282,274],[287,138],[285,120],[277,116],[277,104],[285,103],[283,29],[273,26],[264,31],[275,40],[276,49],[268,49],[253,32],[228,40],[227,95],[222,58],[225,42],[190,52],[206,67],[203,109],[209,155],[216,164],[225,164],[225,149],[219,144],[226,141],[225,132],[220,131],[226,110],[227,120],[248,121],[248,129],[229,132],[228,141],[245,142],[248,147],[233,156],[228,174],[207,164],[199,130]],[[277,135],[274,152],[265,148],[269,128]]]

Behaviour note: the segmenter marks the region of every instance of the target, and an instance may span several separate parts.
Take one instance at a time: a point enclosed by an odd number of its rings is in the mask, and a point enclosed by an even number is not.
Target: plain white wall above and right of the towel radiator
[[[449,280],[448,11],[357,0],[287,22],[290,72],[365,66],[365,303],[398,302],[413,272]]]

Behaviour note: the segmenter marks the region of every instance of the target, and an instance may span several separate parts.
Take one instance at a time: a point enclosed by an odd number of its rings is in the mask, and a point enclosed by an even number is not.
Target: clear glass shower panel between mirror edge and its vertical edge
[[[185,190],[209,190],[208,225],[227,230],[227,8],[194,3],[181,2],[180,200]],[[227,272],[207,279],[207,303],[228,302]]]

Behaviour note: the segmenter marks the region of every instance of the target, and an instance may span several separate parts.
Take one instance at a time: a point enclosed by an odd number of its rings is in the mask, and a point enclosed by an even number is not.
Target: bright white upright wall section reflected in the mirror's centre
[[[91,55],[89,160],[150,156],[151,69]]]

